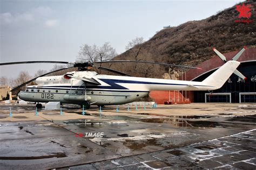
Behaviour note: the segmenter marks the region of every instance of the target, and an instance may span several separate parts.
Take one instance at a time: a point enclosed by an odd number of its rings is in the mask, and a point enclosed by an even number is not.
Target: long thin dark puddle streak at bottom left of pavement
[[[66,154],[63,152],[57,152],[50,155],[42,155],[38,157],[0,157],[0,160],[31,160],[31,159],[45,159],[45,158],[64,158]]]

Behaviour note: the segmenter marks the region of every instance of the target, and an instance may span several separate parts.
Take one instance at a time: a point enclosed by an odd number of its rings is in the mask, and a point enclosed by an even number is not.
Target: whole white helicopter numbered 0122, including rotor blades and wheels
[[[78,67],[77,71],[68,72],[59,76],[46,76],[48,74],[58,72],[60,70],[69,69],[66,67],[57,69],[52,72],[35,77],[11,91],[26,86],[26,84],[35,81],[37,85],[27,86],[24,91],[18,93],[18,97],[24,101],[36,102],[37,108],[42,108],[39,102],[60,102],[69,104],[79,104],[85,109],[89,109],[90,105],[118,105],[131,103],[139,100],[149,94],[151,90],[215,90],[223,86],[228,78],[233,74],[242,77],[238,72],[237,67],[240,62],[235,61],[244,52],[242,48],[233,59],[226,61],[223,54],[213,49],[213,51],[225,62],[223,66],[215,70],[204,81],[182,81],[182,80],[166,80],[152,79],[146,77],[133,77],[118,70],[97,66],[99,63],[114,63],[114,62],[136,62],[150,63],[154,65],[165,65],[174,67],[185,67],[193,69],[201,69],[197,67],[172,65],[160,62],[150,61],[130,61],[130,60],[110,60],[96,62],[68,62],[68,61],[21,61],[21,62],[5,62],[3,65],[16,65],[25,63],[62,63]],[[119,74],[104,75],[91,71],[91,68],[106,70],[108,72]]]

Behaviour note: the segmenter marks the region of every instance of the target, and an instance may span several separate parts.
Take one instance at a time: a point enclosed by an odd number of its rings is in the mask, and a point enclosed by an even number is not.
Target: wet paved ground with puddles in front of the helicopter
[[[8,116],[9,105],[0,106],[0,116]],[[205,115],[197,116],[144,110],[122,115],[112,108],[114,115],[99,115],[92,108],[80,118],[78,108],[68,107],[64,111],[79,118],[53,120],[48,117],[58,112],[44,111],[24,121],[33,109],[14,108],[21,114],[13,117],[23,121],[0,119],[0,169],[256,168],[254,114],[212,115],[205,109]],[[99,132],[104,135],[85,137]]]

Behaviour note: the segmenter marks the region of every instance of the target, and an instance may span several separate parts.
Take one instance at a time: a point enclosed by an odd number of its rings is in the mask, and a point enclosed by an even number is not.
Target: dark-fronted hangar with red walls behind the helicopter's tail
[[[238,52],[223,53],[227,61]],[[230,79],[218,90],[213,91],[151,91],[150,97],[158,104],[182,104],[182,103],[207,103],[207,102],[226,102],[226,103],[255,103],[256,102],[256,47],[248,47],[238,59],[241,62],[238,67],[247,79],[240,79],[232,74]],[[187,70],[180,80],[203,81],[224,62],[217,56],[213,56],[200,63],[200,69]],[[181,78],[182,77],[182,78]],[[185,79],[184,79],[185,77]]]

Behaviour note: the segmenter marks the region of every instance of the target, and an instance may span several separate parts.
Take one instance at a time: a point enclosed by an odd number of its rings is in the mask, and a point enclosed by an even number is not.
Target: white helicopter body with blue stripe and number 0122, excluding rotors
[[[37,86],[28,86],[19,93],[19,98],[30,102],[53,102],[82,104],[88,101],[95,105],[125,104],[138,100],[151,90],[214,90],[226,82],[239,66],[237,61],[228,61],[202,82],[151,79],[143,77],[102,75],[90,71],[70,72],[75,77],[91,79],[99,84],[65,76],[39,77]]]

